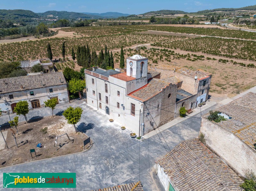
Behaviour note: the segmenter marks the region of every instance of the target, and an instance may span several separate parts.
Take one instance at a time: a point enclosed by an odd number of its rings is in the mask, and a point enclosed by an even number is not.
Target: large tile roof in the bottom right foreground
[[[198,139],[181,142],[158,163],[179,191],[241,190],[239,185],[243,183]]]

